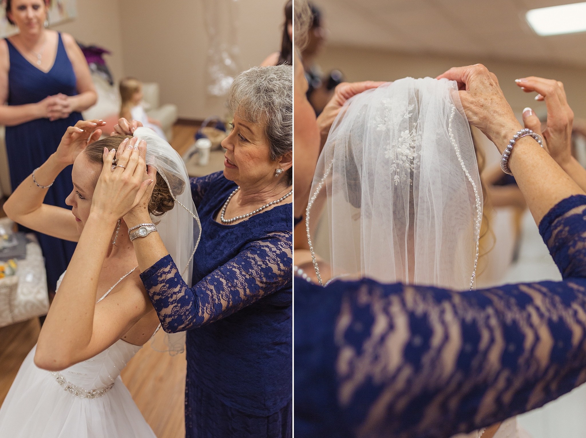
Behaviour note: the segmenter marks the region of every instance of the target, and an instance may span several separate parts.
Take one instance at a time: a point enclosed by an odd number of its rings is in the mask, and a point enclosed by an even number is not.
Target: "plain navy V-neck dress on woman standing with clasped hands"
[[[63,93],[77,94],[77,79],[67,57],[61,34],[55,63],[47,73],[37,69],[25,59],[16,47],[6,39],[10,55],[8,71],[8,105],[34,104],[49,95]],[[6,126],[6,153],[10,169],[12,189],[16,189],[33,170],[42,165],[57,150],[59,142],[68,126],[81,120],[80,112],[72,112],[69,117],[50,122],[48,118]],[[45,196],[45,204],[66,206],[65,199],[73,190],[71,166],[57,176]],[[67,269],[76,244],[62,239],[36,233],[45,256],[47,285],[55,289],[57,279]]]

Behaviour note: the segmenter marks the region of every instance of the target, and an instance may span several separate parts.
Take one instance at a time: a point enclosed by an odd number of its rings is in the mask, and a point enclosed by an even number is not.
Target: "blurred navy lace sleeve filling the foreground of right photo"
[[[539,230],[562,282],[468,292],[295,279],[295,436],[443,438],[586,381],[586,196]]]

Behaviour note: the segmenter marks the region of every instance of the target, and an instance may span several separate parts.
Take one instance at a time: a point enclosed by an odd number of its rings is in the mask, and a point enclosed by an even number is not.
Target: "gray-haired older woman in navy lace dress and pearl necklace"
[[[222,142],[223,172],[191,179],[202,223],[193,285],[183,281],[158,233],[133,244],[163,329],[187,331],[186,437],[289,437],[291,66],[244,71],[229,105],[234,122]],[[151,223],[146,203],[124,220],[128,228]]]

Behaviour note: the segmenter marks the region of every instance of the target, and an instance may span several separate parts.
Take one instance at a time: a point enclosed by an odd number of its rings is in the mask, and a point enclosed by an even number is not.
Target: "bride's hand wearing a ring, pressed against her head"
[[[117,221],[137,206],[154,179],[145,178],[147,142],[138,138],[124,139],[118,148],[124,152],[112,169],[115,150],[104,148],[104,167],[91,201],[91,213],[104,220]]]

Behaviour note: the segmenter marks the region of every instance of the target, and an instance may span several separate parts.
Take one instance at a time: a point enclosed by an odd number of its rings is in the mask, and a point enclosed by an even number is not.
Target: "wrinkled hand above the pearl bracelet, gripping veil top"
[[[482,64],[453,67],[437,79],[458,83],[459,96],[468,121],[479,128],[500,149],[521,129],[506,101],[495,74]],[[502,152],[502,150],[501,150]]]

